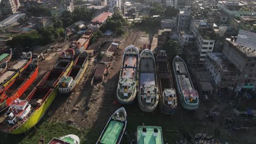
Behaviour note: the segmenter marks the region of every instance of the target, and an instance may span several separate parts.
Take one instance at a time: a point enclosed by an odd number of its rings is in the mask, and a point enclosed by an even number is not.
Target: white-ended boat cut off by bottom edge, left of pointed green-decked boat
[[[65,135],[61,136],[59,139],[54,138],[48,144],[79,144],[80,139],[77,135]]]

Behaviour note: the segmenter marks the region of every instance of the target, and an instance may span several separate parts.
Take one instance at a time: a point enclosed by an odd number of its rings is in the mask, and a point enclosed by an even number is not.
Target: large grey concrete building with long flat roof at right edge
[[[251,47],[226,39],[223,55],[207,53],[206,67],[218,87],[254,89],[256,84],[256,52]]]

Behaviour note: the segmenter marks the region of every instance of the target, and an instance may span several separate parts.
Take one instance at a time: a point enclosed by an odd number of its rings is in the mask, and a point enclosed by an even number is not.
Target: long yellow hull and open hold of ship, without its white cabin
[[[71,59],[73,59],[73,57],[62,57],[57,61],[55,66],[44,76],[38,86],[34,88],[26,98],[26,101],[32,105],[30,115],[15,124],[4,121],[1,126],[1,130],[4,133],[26,133],[40,121],[57,96],[57,84],[59,83],[60,77],[65,76],[71,69],[73,64]]]

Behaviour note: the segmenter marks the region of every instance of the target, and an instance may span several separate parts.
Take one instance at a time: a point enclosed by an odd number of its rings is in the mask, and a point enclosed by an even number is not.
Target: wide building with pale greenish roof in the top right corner
[[[251,16],[253,11],[246,7],[247,3],[241,0],[219,1],[218,7],[225,11],[230,17]]]

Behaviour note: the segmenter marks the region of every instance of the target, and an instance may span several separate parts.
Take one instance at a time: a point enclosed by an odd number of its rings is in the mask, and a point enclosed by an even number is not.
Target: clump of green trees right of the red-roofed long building
[[[127,26],[128,23],[123,16],[121,16],[118,12],[115,12],[112,17],[108,17],[106,22],[101,26],[100,30],[105,32],[107,29],[112,31],[117,35],[124,34],[123,26]]]

